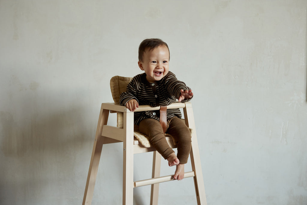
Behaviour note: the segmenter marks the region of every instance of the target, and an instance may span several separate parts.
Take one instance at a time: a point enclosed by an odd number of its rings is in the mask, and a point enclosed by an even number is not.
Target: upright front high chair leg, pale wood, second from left
[[[125,137],[123,143],[123,185],[122,204],[133,204],[133,115],[134,112],[124,112]]]

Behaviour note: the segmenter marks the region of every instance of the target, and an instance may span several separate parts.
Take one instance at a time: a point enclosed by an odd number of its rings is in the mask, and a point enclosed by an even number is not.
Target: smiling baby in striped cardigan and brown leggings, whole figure
[[[191,100],[192,90],[169,71],[169,47],[164,41],[156,38],[142,41],[138,60],[138,66],[145,73],[133,77],[127,85],[127,91],[120,95],[121,105],[135,111],[139,105],[157,107],[172,104],[177,99],[179,102]],[[167,144],[158,110],[135,112],[134,124],[139,125],[140,132],[148,136],[150,143],[168,161],[169,166],[176,165],[174,179],[181,180],[191,150],[191,132],[180,119],[179,108],[168,109],[166,118],[166,132],[177,142],[177,156]]]

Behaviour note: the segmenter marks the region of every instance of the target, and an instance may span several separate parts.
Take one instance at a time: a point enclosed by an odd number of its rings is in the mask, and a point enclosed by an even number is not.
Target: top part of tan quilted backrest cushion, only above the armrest
[[[119,103],[119,96],[122,92],[126,92],[128,83],[132,77],[114,76],[110,80],[110,88],[115,103]]]

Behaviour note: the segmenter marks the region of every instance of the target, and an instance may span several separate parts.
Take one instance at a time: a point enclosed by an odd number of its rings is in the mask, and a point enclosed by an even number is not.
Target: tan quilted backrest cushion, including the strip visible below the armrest
[[[110,80],[110,88],[115,103],[119,104],[119,96],[122,92],[126,92],[128,83],[132,77],[114,76]],[[123,113],[117,112],[117,127],[123,127]]]

